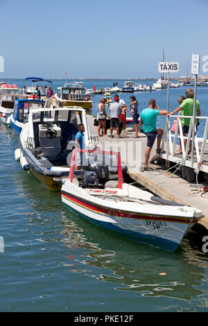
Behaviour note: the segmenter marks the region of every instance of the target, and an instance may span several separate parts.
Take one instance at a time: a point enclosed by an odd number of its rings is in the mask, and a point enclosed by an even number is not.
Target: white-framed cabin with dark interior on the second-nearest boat
[[[78,107],[34,109],[28,116],[28,144],[31,144],[35,156],[44,157],[51,164],[67,164],[67,155],[75,147],[78,124],[85,126],[85,146],[89,144],[89,128],[85,110]]]

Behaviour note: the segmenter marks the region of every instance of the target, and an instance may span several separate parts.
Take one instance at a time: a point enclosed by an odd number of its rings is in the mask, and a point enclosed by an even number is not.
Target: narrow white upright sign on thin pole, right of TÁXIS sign
[[[193,148],[195,139],[195,120],[196,120],[196,92],[197,92],[197,80],[200,69],[200,55],[192,54],[191,61],[191,74],[195,75],[194,80],[194,98],[193,98],[193,129],[192,129],[192,142],[191,142],[191,166],[193,167]]]

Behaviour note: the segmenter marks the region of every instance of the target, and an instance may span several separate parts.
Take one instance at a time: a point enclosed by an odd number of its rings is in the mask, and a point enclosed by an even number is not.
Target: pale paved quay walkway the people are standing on
[[[97,127],[94,126],[95,117],[87,116],[89,123],[89,130],[92,134],[98,135]],[[116,131],[114,131],[114,134]],[[140,171],[140,166],[144,162],[144,152],[146,148],[146,135],[139,132],[139,138],[133,138],[135,132],[130,129],[127,135],[121,133],[119,139],[116,135],[114,138],[110,137],[110,130],[107,130],[109,137],[98,137],[101,147],[105,150],[114,150],[121,152],[121,160],[128,166],[128,174],[132,180],[141,185],[141,189],[153,192],[153,194],[172,200],[184,205],[191,205],[202,210],[204,218],[200,219],[200,225],[203,225],[208,230],[208,193],[202,194],[198,185],[191,184],[187,180],[180,178],[180,175],[173,173],[175,169],[168,170],[164,164],[164,160],[156,155],[156,144],[150,154],[151,165],[155,171]],[[153,164],[154,163],[154,164]],[[201,182],[199,182],[201,184]]]

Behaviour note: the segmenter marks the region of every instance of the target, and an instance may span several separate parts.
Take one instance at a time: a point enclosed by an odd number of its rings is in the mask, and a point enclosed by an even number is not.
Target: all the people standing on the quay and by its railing
[[[157,148],[156,153],[161,153],[161,141],[164,130],[162,128],[157,128],[157,116],[164,115],[170,117],[172,114],[177,114],[180,112],[180,116],[184,118],[181,119],[182,122],[182,132],[183,136],[186,137],[189,133],[189,126],[191,118],[186,118],[187,116],[193,117],[193,89],[188,88],[185,92],[185,96],[180,96],[177,101],[179,106],[173,110],[173,112],[167,112],[167,110],[161,110],[157,106],[154,98],[150,99],[148,108],[141,111],[141,117],[139,119],[139,103],[135,96],[130,96],[130,114],[132,115],[133,124],[135,126],[135,138],[138,137],[138,119],[139,124],[143,125],[142,129],[144,134],[147,137],[146,151],[145,151],[145,160],[144,166],[142,166],[141,171],[151,171],[153,168],[148,166],[150,152],[152,151],[153,144],[157,137]],[[113,130],[116,129],[117,136],[120,138],[121,131],[125,132],[126,127],[126,109],[127,105],[123,100],[119,98],[119,95],[114,96],[114,102],[110,105],[110,137],[114,137]],[[200,117],[200,103],[196,100],[196,115]],[[106,118],[107,114],[105,112],[105,98],[101,98],[100,103],[98,104],[98,136],[101,136],[101,130],[103,136],[106,137]],[[196,129],[199,125],[199,119],[196,119]],[[122,126],[122,127],[121,127]],[[126,132],[125,132],[126,135]],[[184,148],[187,146],[187,139],[184,139]],[[177,154],[182,154],[182,144],[180,141],[180,149],[176,151]],[[188,154],[191,154],[191,141],[189,144]]]

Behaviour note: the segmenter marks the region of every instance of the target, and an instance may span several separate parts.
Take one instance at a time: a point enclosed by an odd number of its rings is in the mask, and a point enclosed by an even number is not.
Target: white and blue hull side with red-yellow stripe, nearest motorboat
[[[96,225],[171,252],[176,250],[190,226],[189,218],[124,212],[97,205],[63,189],[61,193],[67,209]]]

